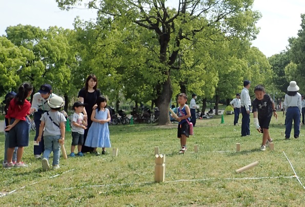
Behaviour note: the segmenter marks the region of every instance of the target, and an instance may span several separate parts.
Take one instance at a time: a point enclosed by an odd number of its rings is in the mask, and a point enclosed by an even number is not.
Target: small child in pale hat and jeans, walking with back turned
[[[37,142],[42,141],[44,134],[45,151],[43,154],[42,165],[43,170],[50,170],[49,157],[53,152],[52,169],[59,169],[60,143],[65,143],[65,122],[67,121],[64,114],[60,113],[60,109],[65,105],[62,97],[54,96],[48,100],[50,111],[44,113],[40,118],[40,129]]]

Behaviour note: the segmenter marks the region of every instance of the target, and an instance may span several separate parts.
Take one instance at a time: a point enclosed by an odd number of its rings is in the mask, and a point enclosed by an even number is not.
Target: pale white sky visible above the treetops
[[[170,0],[174,6],[178,0]],[[305,13],[304,0],[254,0],[253,10],[261,12],[256,24],[260,28],[252,46],[270,57],[286,49],[289,37],[297,37],[302,12]],[[5,35],[8,26],[32,25],[42,29],[50,26],[73,29],[76,16],[81,19],[94,19],[96,11],[78,7],[62,11],[55,0],[0,0],[0,35]]]

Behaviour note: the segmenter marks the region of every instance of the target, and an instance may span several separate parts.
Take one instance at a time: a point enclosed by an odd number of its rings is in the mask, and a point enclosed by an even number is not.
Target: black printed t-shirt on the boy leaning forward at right
[[[258,112],[258,118],[271,117],[273,114],[272,103],[273,100],[268,94],[263,95],[262,100],[257,100],[255,98],[252,102],[252,112]]]

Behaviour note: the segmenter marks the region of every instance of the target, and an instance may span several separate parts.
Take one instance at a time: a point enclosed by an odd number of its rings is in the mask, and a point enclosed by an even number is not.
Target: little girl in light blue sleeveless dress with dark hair
[[[92,111],[92,125],[89,128],[85,146],[93,148],[93,154],[99,155],[96,148],[102,148],[101,154],[105,154],[105,148],[111,148],[108,122],[111,120],[110,112],[106,108],[107,99],[104,96],[97,97],[97,108]]]

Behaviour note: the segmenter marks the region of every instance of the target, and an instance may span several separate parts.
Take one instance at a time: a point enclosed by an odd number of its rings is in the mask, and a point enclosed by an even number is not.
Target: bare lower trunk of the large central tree
[[[161,85],[162,90],[157,97],[156,106],[160,110],[160,116],[158,119],[158,125],[168,125],[170,123],[169,116],[169,104],[173,95],[173,89],[171,87],[171,80],[168,75],[167,80]]]

